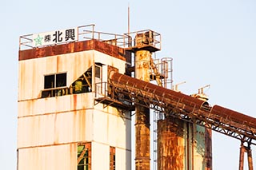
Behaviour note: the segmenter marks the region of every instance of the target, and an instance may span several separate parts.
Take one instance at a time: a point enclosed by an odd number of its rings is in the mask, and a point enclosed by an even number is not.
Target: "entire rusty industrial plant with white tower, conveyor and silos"
[[[88,25],[21,36],[18,170],[130,170],[131,152],[137,170],[150,161],[158,170],[210,170],[211,130],[241,140],[240,169],[244,152],[252,169],[256,119],[172,89],[172,58],[154,58],[159,50],[153,30]]]

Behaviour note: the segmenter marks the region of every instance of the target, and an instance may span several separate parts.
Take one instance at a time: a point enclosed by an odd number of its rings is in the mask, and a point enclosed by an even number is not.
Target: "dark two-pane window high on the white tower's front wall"
[[[46,75],[42,97],[62,96],[66,93],[66,73]]]

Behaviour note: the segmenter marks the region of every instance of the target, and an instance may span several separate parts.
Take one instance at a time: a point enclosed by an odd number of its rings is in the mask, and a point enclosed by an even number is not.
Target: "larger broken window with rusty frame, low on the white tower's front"
[[[90,170],[91,168],[91,144],[78,144],[78,170]]]

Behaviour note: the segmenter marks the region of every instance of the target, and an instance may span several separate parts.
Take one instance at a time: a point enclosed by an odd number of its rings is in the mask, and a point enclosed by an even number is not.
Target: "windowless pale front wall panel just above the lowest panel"
[[[18,148],[93,140],[93,111],[79,110],[18,119]]]

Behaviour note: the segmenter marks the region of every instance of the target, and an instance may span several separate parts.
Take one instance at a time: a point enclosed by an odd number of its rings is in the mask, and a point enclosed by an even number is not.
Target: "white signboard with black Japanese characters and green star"
[[[33,34],[33,47],[74,42],[78,40],[78,28],[55,30],[46,33]]]

